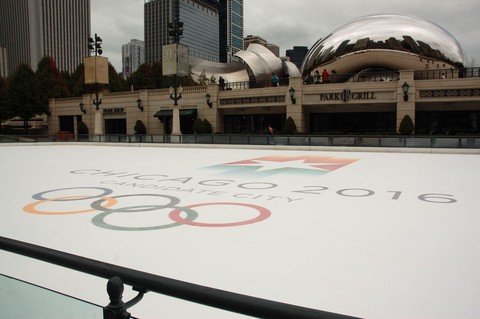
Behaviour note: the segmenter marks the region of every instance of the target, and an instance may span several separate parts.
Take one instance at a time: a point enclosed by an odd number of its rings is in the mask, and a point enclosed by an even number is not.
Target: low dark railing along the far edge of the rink
[[[159,144],[223,144],[285,146],[347,146],[389,148],[480,149],[479,135],[274,135],[264,134],[183,134],[183,135],[57,135],[0,136],[0,143],[85,142],[85,143],[159,143]]]

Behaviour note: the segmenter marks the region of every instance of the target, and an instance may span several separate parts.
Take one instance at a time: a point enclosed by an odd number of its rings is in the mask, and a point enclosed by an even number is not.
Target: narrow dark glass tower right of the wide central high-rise
[[[243,50],[243,0],[220,0],[220,62],[235,61]]]

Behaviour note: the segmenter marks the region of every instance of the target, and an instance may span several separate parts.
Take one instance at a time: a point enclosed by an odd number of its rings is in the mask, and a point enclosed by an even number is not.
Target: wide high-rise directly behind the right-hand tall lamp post
[[[168,23],[183,22],[180,43],[189,55],[219,61],[219,0],[145,0],[145,62],[162,61],[162,46],[170,44]]]

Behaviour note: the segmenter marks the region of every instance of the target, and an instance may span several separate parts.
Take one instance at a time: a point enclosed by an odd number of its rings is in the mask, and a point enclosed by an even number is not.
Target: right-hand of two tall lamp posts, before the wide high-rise
[[[170,87],[170,99],[173,100],[173,114],[172,114],[172,135],[181,135],[180,129],[180,110],[178,108],[178,100],[182,98],[182,87],[178,86],[178,43],[180,37],[183,35],[183,22],[174,21],[168,23],[168,36],[176,45],[175,50],[175,73],[173,74],[173,87]]]

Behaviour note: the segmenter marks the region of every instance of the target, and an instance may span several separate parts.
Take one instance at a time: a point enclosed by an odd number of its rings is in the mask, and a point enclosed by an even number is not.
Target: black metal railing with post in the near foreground
[[[356,318],[170,279],[6,237],[0,237],[0,249],[109,279],[107,290],[112,302],[104,308],[105,319],[128,318],[124,316],[126,308],[138,302],[146,292],[155,292],[256,318]],[[119,309],[115,306],[123,304],[121,300],[123,283],[139,291],[139,295],[134,300],[127,302],[125,309],[117,312]],[[118,295],[120,295],[120,300],[117,298],[117,304],[114,304],[112,297],[118,297]]]

